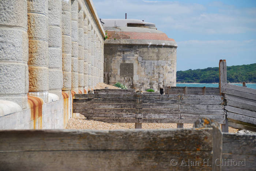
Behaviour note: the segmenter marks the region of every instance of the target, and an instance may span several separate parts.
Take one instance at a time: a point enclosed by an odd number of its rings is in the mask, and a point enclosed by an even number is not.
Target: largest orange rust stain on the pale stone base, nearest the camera
[[[27,96],[27,103],[31,110],[31,120],[34,122],[33,128],[42,129],[42,106],[44,100],[35,96]]]

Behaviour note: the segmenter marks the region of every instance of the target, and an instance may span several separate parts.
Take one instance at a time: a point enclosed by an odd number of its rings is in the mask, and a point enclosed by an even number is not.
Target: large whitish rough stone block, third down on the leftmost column
[[[1,95],[26,93],[26,65],[16,62],[0,62]]]

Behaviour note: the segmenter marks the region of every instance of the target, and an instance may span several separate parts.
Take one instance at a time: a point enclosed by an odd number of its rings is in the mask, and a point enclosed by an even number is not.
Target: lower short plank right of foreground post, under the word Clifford
[[[245,171],[256,168],[256,155],[222,154],[222,160],[222,171]],[[217,164],[219,164],[219,160]]]

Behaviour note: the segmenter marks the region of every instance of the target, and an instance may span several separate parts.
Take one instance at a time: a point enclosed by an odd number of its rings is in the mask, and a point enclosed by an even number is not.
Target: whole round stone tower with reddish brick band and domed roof
[[[141,91],[176,86],[174,39],[155,24],[134,19],[101,19],[104,41],[104,83],[120,82]]]

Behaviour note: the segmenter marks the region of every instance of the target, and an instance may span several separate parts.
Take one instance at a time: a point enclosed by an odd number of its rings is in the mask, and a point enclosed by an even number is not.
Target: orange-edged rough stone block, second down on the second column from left
[[[48,40],[48,17],[38,13],[27,13],[29,38]]]

